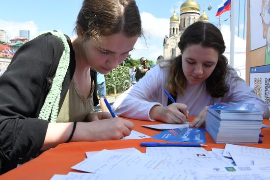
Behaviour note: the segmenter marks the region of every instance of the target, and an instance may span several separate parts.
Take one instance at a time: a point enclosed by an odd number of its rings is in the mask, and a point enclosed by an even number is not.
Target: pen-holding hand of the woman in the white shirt
[[[183,113],[182,113],[182,112]],[[183,123],[187,121],[187,105],[183,103],[172,103],[168,106],[154,106],[149,112],[151,119],[160,120],[164,123]]]

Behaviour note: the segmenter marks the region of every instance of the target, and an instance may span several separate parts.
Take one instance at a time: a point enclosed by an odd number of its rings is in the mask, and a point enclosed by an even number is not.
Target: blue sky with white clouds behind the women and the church
[[[201,13],[205,6],[209,22],[217,24],[216,12],[208,11],[211,3],[213,9],[222,3],[222,0],[196,0],[201,6]],[[246,0],[247,1],[247,0]],[[145,39],[139,39],[135,44],[132,58],[142,56],[156,60],[163,54],[163,38],[169,34],[169,19],[175,8],[180,16],[180,6],[185,0],[136,0],[141,13],[142,25],[145,30]],[[19,36],[19,30],[30,30],[30,37],[44,30],[58,30],[72,37],[77,14],[82,0],[8,0],[6,6],[1,6],[0,29],[9,35],[9,38]],[[243,38],[244,0],[240,0],[240,37]],[[236,35],[238,35],[239,0],[236,2]],[[246,13],[246,12],[245,12]],[[221,21],[229,18],[230,12],[221,16]],[[246,18],[245,18],[246,19]],[[222,22],[222,28],[228,29],[230,21]],[[245,28],[246,29],[246,28]]]

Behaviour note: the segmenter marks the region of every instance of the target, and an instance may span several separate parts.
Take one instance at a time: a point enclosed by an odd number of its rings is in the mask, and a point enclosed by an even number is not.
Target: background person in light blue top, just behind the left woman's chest
[[[104,98],[106,98],[106,82],[103,74],[98,72],[97,75],[98,82],[98,94],[99,94],[99,104],[102,112],[107,111],[106,103],[104,102]]]

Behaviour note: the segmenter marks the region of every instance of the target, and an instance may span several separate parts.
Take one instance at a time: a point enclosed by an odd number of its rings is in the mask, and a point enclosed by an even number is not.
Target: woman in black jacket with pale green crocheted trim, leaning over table
[[[75,30],[73,42],[55,31],[28,41],[0,77],[1,173],[60,143],[119,140],[134,128],[91,113],[90,69],[107,74],[134,49],[142,35],[135,0],[83,0]]]

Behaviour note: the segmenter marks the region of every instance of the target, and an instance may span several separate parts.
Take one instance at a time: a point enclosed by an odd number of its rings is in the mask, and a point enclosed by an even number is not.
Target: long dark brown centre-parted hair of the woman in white
[[[178,47],[183,53],[185,49],[192,44],[200,44],[203,47],[214,48],[218,51],[218,60],[216,67],[210,77],[206,79],[206,90],[214,97],[223,97],[229,90],[225,78],[229,74],[230,68],[227,58],[223,55],[225,51],[225,43],[220,30],[211,23],[198,21],[190,25],[181,35]],[[169,79],[166,84],[167,90],[176,95],[180,93],[184,95],[187,87],[187,78],[182,69],[182,55],[170,60]]]

